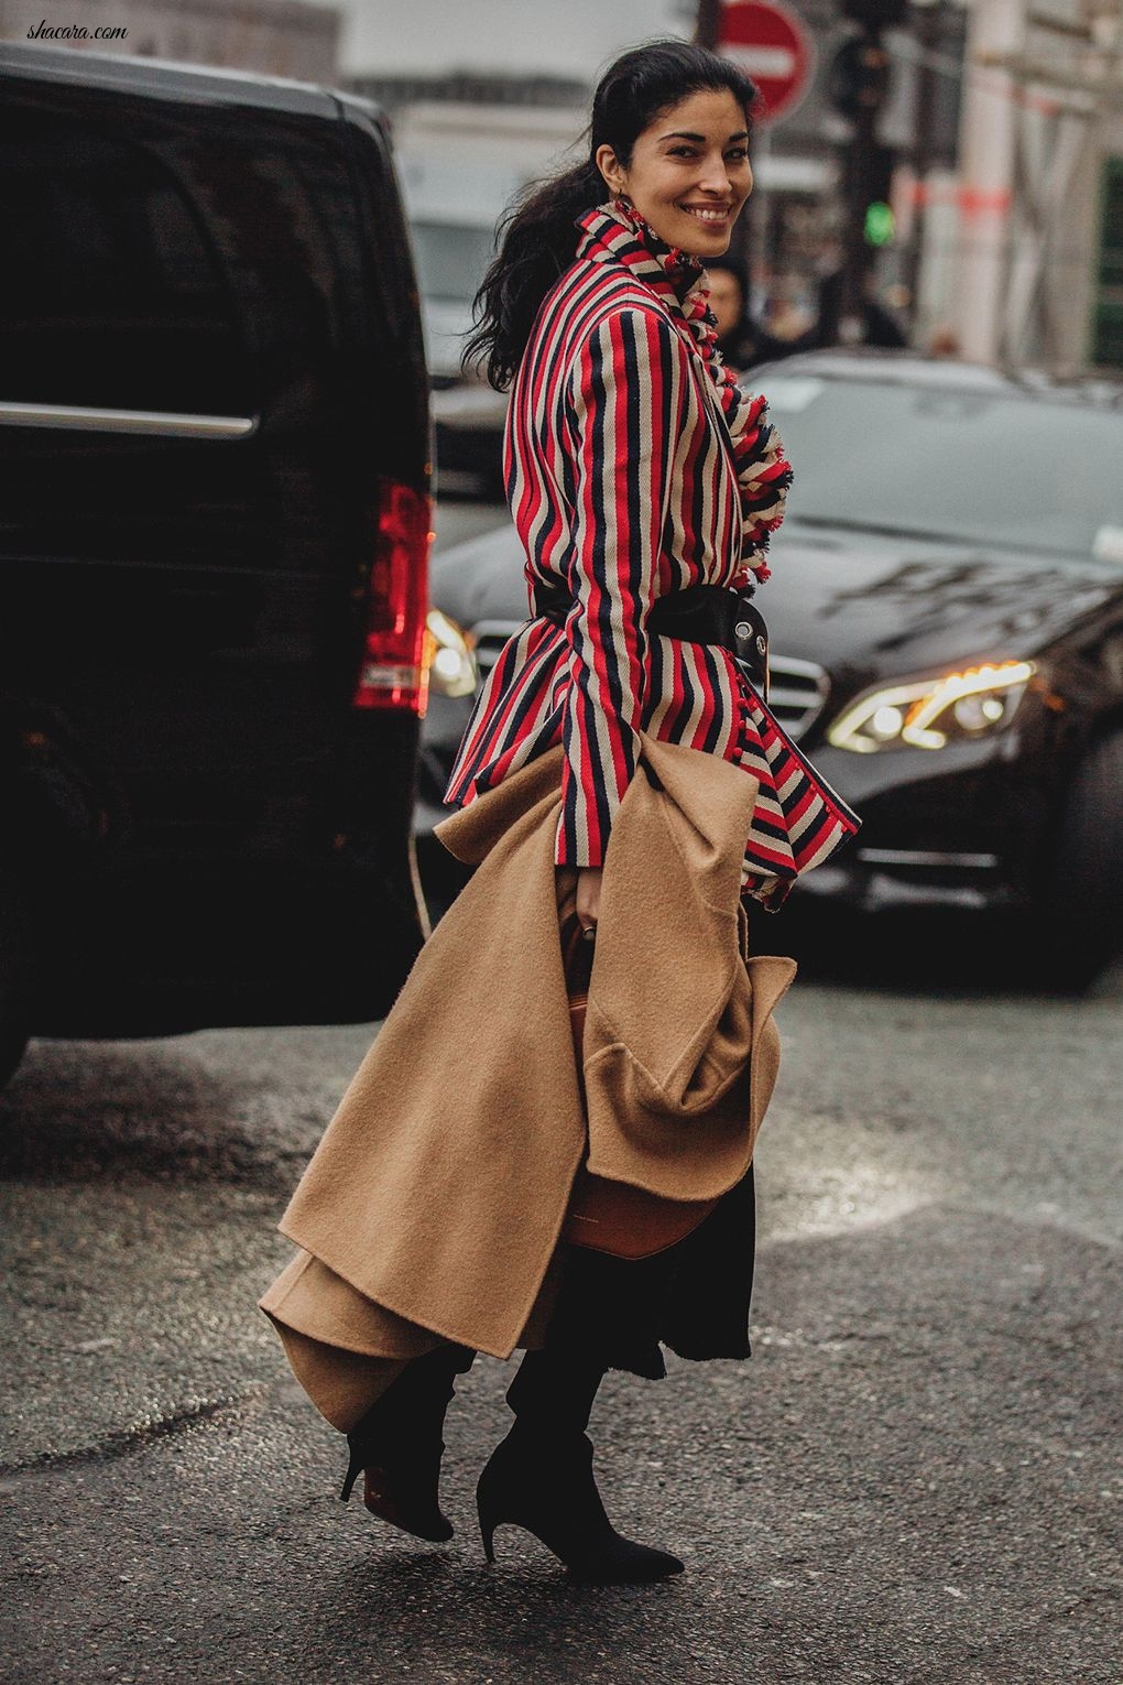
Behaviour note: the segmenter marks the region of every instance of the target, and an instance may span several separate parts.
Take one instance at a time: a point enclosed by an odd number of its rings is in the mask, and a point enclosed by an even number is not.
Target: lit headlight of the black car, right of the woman
[[[1032,661],[1002,661],[867,691],[838,714],[827,741],[857,755],[971,741],[1010,723],[1032,676]]]

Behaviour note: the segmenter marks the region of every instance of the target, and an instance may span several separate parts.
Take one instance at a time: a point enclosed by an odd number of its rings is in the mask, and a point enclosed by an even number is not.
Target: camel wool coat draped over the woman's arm
[[[281,1218],[300,1252],[261,1308],[283,1338],[387,1350],[364,1335],[365,1306],[375,1331],[412,1324],[399,1356],[433,1336],[508,1356],[586,1147],[598,1174],[682,1200],[724,1193],[751,1163],[778,1072],[771,1014],[795,976],[788,959],[748,957],[754,780],[641,735],[604,859],[586,1124],[557,925],[562,753],[438,827],[476,869]]]

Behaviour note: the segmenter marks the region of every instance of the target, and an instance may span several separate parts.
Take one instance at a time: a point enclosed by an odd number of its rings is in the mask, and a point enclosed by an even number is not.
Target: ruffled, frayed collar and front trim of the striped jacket
[[[780,435],[768,421],[768,399],[742,393],[734,372],[722,362],[702,259],[679,246],[668,246],[626,199],[613,199],[586,211],[577,219],[577,258],[623,265],[648,286],[712,381],[737,472],[744,570],[764,581],[769,576],[764,553],[785,516],[791,465]]]

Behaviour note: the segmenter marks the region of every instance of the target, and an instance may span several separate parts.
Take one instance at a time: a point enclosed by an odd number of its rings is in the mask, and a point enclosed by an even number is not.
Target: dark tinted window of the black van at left
[[[3,398],[249,413],[232,298],[173,170],[93,123],[10,106],[3,131]]]

